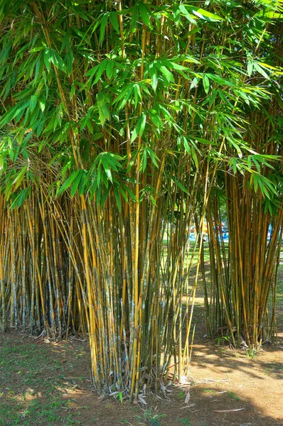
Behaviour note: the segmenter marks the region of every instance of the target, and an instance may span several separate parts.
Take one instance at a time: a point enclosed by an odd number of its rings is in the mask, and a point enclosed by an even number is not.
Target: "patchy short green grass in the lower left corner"
[[[63,393],[72,383],[63,380],[65,366],[43,344],[24,344],[0,337],[0,425],[82,425],[77,410],[68,413]],[[38,350],[39,349],[39,350]],[[62,356],[62,354],[61,354]],[[45,370],[43,383],[41,373]],[[47,372],[47,374],[46,374]]]

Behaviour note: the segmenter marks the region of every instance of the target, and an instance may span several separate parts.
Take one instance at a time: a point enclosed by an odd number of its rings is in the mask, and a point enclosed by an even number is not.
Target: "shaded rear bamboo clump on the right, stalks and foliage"
[[[282,24],[272,31],[274,50],[269,52],[269,60],[280,67]],[[259,42],[259,55],[262,48]],[[267,84],[269,102],[262,101],[257,109],[245,108],[248,131],[243,131],[244,126],[241,130],[245,140],[239,138],[234,144],[237,153],[231,151],[223,163],[226,173],[219,173],[215,180],[207,214],[208,332],[228,337],[234,346],[274,342],[277,332],[275,294],[283,225],[282,109],[277,84],[259,67],[255,71],[257,84]],[[223,220],[228,226],[228,242],[223,239]]]

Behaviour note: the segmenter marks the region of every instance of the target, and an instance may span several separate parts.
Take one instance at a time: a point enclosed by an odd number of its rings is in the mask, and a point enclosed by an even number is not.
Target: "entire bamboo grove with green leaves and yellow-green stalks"
[[[281,13],[0,1],[3,330],[87,335],[95,386],[134,400],[186,374],[201,273],[208,332],[262,338],[282,238]]]

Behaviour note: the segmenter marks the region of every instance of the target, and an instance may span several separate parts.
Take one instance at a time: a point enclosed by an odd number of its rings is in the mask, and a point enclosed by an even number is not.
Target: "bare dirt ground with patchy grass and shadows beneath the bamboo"
[[[143,406],[92,391],[87,342],[0,334],[0,426],[283,426],[281,275],[277,346],[255,357],[219,346],[204,337],[198,304],[190,385],[170,386],[166,397],[146,395]]]

